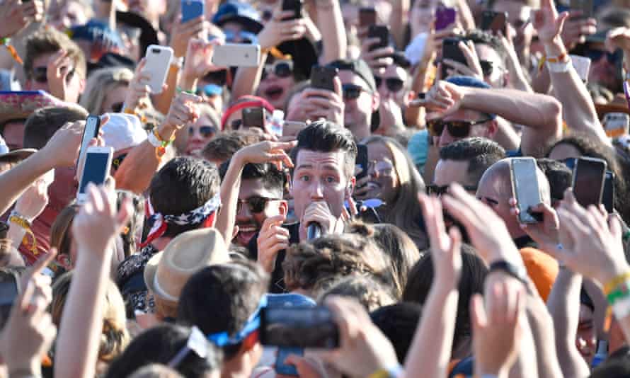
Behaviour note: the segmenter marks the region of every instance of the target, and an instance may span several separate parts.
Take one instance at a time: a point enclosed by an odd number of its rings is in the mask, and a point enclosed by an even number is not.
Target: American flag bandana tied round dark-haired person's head
[[[185,226],[186,224],[200,224],[204,221],[212,212],[215,212],[221,206],[221,197],[219,193],[214,195],[214,197],[207,200],[205,204],[197,207],[194,210],[190,210],[190,212],[185,212],[179,215],[162,215],[159,212],[154,212],[153,206],[151,205],[151,200],[147,199],[147,215],[149,219],[153,221],[153,226],[151,226],[151,231],[147,235],[147,239],[144,240],[140,244],[140,248],[144,248],[164,235],[166,232],[166,227],[168,224],[178,224],[179,226]]]

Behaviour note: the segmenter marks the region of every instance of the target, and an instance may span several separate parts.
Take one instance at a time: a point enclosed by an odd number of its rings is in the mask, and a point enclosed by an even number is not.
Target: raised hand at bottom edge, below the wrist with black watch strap
[[[525,292],[522,287],[497,281],[485,295],[486,307],[479,294],[470,302],[475,375],[507,377],[520,350]]]

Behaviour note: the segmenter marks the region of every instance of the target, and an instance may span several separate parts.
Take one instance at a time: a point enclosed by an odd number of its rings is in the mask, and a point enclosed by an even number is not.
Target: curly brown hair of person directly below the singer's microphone
[[[391,282],[389,258],[374,242],[356,234],[327,235],[291,246],[282,263],[287,291],[321,292],[348,275],[374,275]]]

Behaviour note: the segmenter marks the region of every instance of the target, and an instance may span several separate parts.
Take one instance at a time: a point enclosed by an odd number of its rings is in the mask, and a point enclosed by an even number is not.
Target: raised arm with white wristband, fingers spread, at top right
[[[554,96],[563,106],[563,118],[568,127],[588,132],[603,144],[610,145],[590,94],[573,68],[562,42],[560,34],[567,17],[567,12],[558,14],[553,0],[542,0],[540,9],[534,13],[534,27],[544,46]],[[558,59],[559,62],[551,62],[551,59]]]

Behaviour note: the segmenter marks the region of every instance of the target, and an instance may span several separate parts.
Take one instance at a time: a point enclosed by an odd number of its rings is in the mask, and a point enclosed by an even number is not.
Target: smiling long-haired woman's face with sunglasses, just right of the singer
[[[379,198],[385,203],[396,200],[399,190],[399,177],[394,168],[394,156],[385,144],[372,142],[367,144],[368,198]]]

